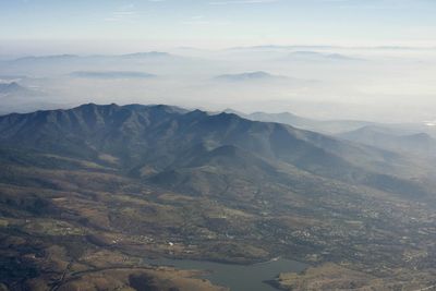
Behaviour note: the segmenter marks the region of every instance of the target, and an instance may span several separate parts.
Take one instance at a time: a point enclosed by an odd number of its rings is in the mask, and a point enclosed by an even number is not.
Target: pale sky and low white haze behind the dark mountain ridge
[[[44,97],[34,100],[37,108],[166,102],[288,110],[319,119],[433,121],[435,15],[436,0],[0,0],[0,82],[24,76],[21,84]],[[175,58],[88,58],[152,50]],[[65,53],[85,58],[11,62]],[[71,77],[83,70],[157,77]],[[256,71],[289,78],[286,84],[214,82],[221,74]]]

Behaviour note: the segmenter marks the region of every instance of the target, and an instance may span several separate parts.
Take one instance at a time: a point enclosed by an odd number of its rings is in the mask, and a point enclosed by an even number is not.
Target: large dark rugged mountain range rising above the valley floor
[[[123,171],[197,194],[204,194],[202,189],[223,191],[226,183],[211,185],[217,178],[287,183],[295,179],[294,172],[404,195],[426,194],[409,179],[413,171],[407,169],[414,161],[404,156],[225,112],[90,104],[1,117],[0,134],[3,147],[24,146],[97,163],[109,155]]]

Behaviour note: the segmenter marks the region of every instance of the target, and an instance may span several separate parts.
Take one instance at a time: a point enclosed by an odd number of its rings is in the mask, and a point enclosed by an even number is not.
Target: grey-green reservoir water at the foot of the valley
[[[144,263],[157,266],[173,266],[178,269],[205,270],[202,278],[214,284],[230,288],[231,291],[277,291],[265,283],[280,272],[299,272],[308,267],[307,264],[279,258],[253,265],[233,265],[190,259],[145,259]]]

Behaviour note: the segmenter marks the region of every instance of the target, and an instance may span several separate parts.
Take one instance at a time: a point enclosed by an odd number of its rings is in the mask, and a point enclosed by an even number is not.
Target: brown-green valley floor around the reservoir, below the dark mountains
[[[240,201],[192,196],[87,167],[0,166],[3,290],[223,290],[198,271],[144,265],[145,256],[237,264],[284,256],[315,266],[277,274],[271,283],[289,290],[435,284],[436,217],[426,205],[376,203],[370,192],[338,199],[340,184],[312,197],[272,185]]]

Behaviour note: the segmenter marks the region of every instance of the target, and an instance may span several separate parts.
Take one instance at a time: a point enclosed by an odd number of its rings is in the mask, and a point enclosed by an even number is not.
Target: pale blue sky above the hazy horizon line
[[[29,44],[433,47],[435,15],[435,0],[0,0],[0,52]]]

